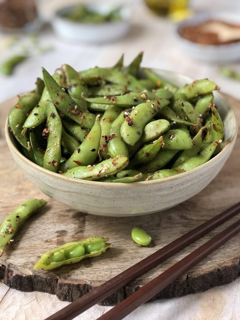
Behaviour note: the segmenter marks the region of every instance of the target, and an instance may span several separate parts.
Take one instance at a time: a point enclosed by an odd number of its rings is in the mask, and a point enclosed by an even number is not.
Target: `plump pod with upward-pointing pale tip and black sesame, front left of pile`
[[[101,138],[101,125],[99,117],[96,117],[96,122],[88,133],[82,144],[73,152],[71,157],[60,166],[60,171],[64,172],[68,169],[79,165],[94,164],[98,155],[98,148]]]

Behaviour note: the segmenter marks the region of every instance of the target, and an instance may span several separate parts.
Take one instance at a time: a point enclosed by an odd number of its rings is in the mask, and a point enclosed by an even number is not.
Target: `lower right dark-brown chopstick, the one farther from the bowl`
[[[103,314],[97,320],[121,320],[129,315],[133,310],[151,299],[155,294],[164,289],[167,285],[182,276],[186,271],[203,260],[207,255],[216,250],[231,237],[240,232],[240,219],[228,228],[214,236],[212,239],[201,245],[198,249],[191,252],[185,258],[175,263],[172,267],[161,273],[153,280],[149,281],[138,291],[120,302],[114,308]]]

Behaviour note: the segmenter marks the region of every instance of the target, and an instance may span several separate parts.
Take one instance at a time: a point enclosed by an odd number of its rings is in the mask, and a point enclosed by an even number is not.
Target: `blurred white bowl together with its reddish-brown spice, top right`
[[[240,60],[240,12],[207,12],[179,24],[184,54],[211,63]]]

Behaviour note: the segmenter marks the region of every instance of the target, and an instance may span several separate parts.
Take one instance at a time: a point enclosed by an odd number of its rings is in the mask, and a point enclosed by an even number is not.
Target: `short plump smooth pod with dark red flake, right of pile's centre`
[[[164,149],[186,150],[191,149],[193,142],[191,136],[181,129],[171,129],[163,134]]]

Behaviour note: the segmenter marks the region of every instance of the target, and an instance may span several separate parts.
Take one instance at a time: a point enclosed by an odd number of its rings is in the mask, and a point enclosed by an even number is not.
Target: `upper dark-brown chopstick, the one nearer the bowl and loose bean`
[[[45,320],[71,320],[240,212],[240,202],[119,273]]]

